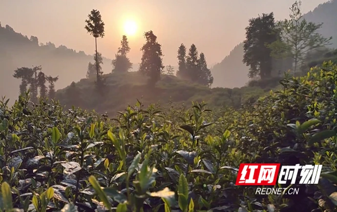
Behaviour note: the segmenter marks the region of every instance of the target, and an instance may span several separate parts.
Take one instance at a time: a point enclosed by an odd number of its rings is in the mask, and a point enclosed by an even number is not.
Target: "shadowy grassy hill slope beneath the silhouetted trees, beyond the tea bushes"
[[[212,106],[239,107],[250,97],[261,96],[270,90],[270,88],[258,87],[210,89],[168,75],[162,76],[155,89],[149,89],[146,86],[147,77],[138,72],[124,75],[108,74],[105,77],[107,89],[104,97],[95,92],[94,79],[82,79],[76,83],[75,97],[69,95],[68,86],[57,92],[57,98],[68,107],[74,105],[113,115],[129,104],[133,105],[136,99],[141,100],[144,105],[158,102],[167,104],[169,101],[190,105],[191,101],[204,100]]]

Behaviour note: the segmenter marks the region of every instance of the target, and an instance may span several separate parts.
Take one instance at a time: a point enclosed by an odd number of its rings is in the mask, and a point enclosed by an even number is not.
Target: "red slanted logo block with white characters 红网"
[[[235,185],[274,186],[280,165],[279,163],[241,163]]]

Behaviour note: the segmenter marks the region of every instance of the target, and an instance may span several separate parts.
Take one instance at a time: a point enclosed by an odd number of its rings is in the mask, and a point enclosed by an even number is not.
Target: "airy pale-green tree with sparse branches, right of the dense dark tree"
[[[280,39],[269,45],[272,56],[275,58],[291,57],[294,59],[294,76],[298,65],[303,64],[306,53],[309,51],[330,45],[330,38],[324,38],[317,32],[323,23],[315,24],[307,22],[301,13],[301,1],[295,1],[290,7],[290,19],[284,19],[278,23]]]

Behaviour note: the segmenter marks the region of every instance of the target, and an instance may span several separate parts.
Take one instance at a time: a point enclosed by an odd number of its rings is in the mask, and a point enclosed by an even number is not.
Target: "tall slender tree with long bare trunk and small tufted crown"
[[[99,73],[99,62],[98,62],[98,52],[97,52],[97,38],[103,38],[104,34],[104,22],[102,21],[102,16],[100,11],[92,10],[88,15],[88,19],[85,20],[86,31],[95,38],[95,53],[96,53],[96,75],[97,75],[97,84],[100,85],[102,82],[100,73]]]

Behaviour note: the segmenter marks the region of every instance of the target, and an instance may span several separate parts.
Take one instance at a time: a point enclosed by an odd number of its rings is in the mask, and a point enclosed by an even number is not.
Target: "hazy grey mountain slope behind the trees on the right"
[[[313,11],[303,15],[307,21],[314,23],[323,22],[318,31],[325,38],[333,37],[330,48],[337,48],[337,0],[319,4]],[[266,11],[268,12],[268,11]],[[252,17],[253,18],[253,17]],[[242,87],[249,81],[249,66],[243,62],[243,42],[233,48],[228,56],[211,69],[214,77],[212,87]]]

